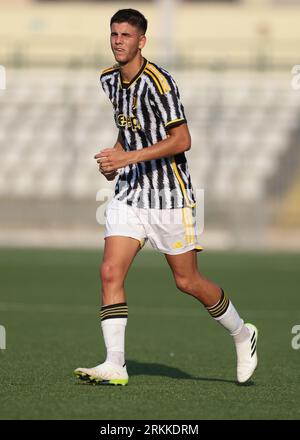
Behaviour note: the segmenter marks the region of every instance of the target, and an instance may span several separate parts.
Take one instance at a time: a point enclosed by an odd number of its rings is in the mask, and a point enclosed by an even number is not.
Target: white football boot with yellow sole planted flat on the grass
[[[94,368],[76,368],[74,371],[76,377],[92,383],[101,385],[127,385],[128,374],[126,365],[123,367],[111,362],[103,362]]]

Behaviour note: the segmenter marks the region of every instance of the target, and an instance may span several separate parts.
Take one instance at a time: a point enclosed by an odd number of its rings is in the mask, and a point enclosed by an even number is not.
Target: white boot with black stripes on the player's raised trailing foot
[[[237,380],[247,382],[257,367],[257,338],[258,330],[253,324],[245,324],[250,336],[244,342],[235,344],[237,354]]]

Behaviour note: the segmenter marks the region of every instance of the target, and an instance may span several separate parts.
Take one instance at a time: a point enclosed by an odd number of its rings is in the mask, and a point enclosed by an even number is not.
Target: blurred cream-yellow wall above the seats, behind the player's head
[[[162,3],[162,2],[161,2]],[[299,5],[131,2],[149,19],[146,56],[177,66],[286,68],[299,59]],[[110,64],[108,23],[124,2],[1,4],[5,65]],[[170,20],[172,18],[172,23]],[[164,29],[171,29],[171,37]],[[166,50],[168,45],[168,50]],[[174,54],[170,55],[170,47]]]

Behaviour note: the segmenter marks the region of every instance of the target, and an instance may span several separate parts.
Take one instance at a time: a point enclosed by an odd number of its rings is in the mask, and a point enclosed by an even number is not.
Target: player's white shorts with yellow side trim
[[[123,236],[147,240],[164,254],[177,255],[203,248],[198,242],[195,208],[142,209],[112,199],[105,211],[104,237]]]

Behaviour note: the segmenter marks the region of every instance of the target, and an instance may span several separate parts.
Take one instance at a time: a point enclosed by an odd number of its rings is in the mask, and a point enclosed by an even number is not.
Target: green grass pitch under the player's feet
[[[129,273],[128,387],[88,385],[79,366],[104,359],[100,252],[0,250],[1,419],[299,419],[300,255],[209,253],[203,273],[259,329],[253,382],[235,381],[230,336],[179,292],[165,259],[142,251]]]

